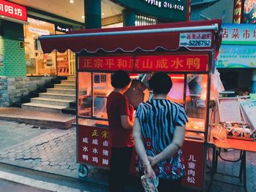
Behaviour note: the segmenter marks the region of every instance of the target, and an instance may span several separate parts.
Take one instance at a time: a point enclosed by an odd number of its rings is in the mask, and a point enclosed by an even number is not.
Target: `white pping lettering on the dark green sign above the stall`
[[[145,1],[147,4],[151,4],[159,8],[164,7],[168,9],[176,9],[176,10],[184,11],[184,5],[181,4],[180,0],[174,1],[173,3],[170,3],[167,1],[158,1],[158,0],[142,0],[142,1]]]

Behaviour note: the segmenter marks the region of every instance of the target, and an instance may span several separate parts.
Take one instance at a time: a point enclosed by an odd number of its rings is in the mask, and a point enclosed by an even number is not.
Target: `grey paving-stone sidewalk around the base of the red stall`
[[[75,140],[75,127],[69,128],[68,130],[52,130],[31,139],[29,142],[23,142],[22,144],[1,150],[0,162],[78,178]],[[222,155],[225,158],[236,159],[238,158],[239,152],[230,150],[228,152],[222,152]],[[246,162],[248,191],[256,191],[255,153],[246,153]],[[219,159],[218,169],[230,174],[238,174],[239,165],[239,163],[230,164]],[[89,166],[89,175],[86,177],[86,180],[107,185],[108,170]],[[206,185],[208,185],[208,180],[209,174],[206,177]],[[234,184],[239,183],[236,179],[221,175],[218,176],[218,180],[227,180]],[[131,177],[129,185],[132,185],[131,191],[136,191],[136,188],[138,191],[138,180]],[[219,191],[239,192],[243,191],[243,188],[213,182],[210,192]]]

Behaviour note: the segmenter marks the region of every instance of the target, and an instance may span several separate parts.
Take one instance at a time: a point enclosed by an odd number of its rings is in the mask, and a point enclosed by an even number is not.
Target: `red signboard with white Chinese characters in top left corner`
[[[0,15],[27,21],[26,7],[0,0]]]

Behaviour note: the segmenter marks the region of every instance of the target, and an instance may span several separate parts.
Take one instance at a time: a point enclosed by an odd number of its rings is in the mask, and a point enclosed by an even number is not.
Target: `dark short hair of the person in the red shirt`
[[[122,70],[114,72],[114,74],[111,76],[111,85],[113,88],[124,88],[125,86],[129,85],[129,82],[131,82],[129,74]]]

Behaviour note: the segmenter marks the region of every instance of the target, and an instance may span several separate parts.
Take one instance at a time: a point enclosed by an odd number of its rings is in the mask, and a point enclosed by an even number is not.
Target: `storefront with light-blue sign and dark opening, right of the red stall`
[[[217,57],[226,91],[238,96],[255,93],[256,26],[253,24],[223,24],[222,45]]]

